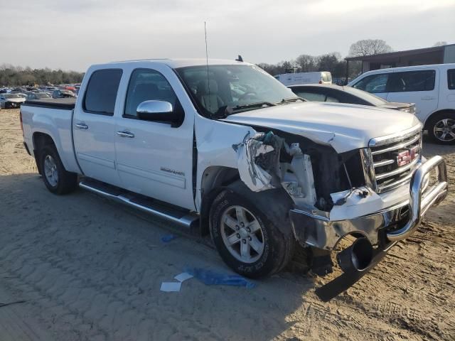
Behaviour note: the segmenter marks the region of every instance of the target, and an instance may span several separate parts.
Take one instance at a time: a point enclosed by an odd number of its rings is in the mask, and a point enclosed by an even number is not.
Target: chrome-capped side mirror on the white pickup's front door
[[[159,121],[180,126],[183,112],[174,110],[172,104],[165,101],[145,101],[137,106],[137,117],[144,121]]]

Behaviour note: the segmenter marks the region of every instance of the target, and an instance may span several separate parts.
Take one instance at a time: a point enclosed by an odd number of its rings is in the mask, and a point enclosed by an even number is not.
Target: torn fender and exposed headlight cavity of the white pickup
[[[240,179],[250,190],[283,188],[297,209],[329,212],[339,204],[339,198],[333,201],[332,193],[365,185],[358,178],[362,175],[358,153],[338,154],[331,146],[302,136],[262,131],[247,134],[232,148],[237,152]],[[355,178],[350,179],[348,171]]]

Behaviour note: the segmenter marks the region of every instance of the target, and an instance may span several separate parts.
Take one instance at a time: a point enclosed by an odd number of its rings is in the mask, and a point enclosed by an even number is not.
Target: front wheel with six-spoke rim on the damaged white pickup
[[[242,188],[242,184],[236,187]],[[213,201],[209,217],[213,242],[223,261],[238,274],[250,278],[272,275],[287,265],[294,251],[290,227],[279,226],[289,222],[287,210],[282,210],[278,220],[276,215],[266,214],[274,209],[261,200],[265,193],[240,192],[227,189]]]

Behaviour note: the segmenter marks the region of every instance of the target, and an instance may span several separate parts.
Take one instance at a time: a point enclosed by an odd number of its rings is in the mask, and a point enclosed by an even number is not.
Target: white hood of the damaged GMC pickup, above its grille
[[[421,124],[412,114],[354,104],[304,102],[232,114],[223,121],[279,129],[331,145],[338,153],[365,148],[374,137]]]

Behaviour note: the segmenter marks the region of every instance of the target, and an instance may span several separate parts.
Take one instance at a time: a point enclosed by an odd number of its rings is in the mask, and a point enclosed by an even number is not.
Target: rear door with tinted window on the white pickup
[[[121,78],[121,69],[95,70],[73,119],[75,153],[82,172],[111,185],[120,185],[115,166],[114,108]]]

